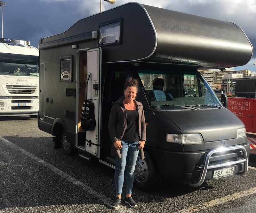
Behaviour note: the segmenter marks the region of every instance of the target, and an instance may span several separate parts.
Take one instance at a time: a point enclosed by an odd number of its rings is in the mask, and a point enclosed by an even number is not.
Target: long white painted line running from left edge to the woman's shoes
[[[48,169],[52,170],[53,172],[55,172],[56,174],[58,174],[59,176],[61,176],[62,178],[68,180],[69,182],[75,184],[76,186],[79,186],[80,188],[82,188],[85,192],[93,195],[94,197],[96,197],[97,199],[99,199],[100,201],[102,201],[103,203],[105,203],[106,205],[110,206],[110,203],[112,202],[112,200],[110,198],[108,198],[107,196],[105,196],[104,194],[94,190],[92,187],[82,183],[81,181],[73,178],[72,176],[68,175],[67,173],[61,171],[60,169],[54,167],[52,164],[49,164],[47,162],[45,162],[44,160],[42,160],[39,157],[36,157],[35,155],[31,154],[30,152],[26,151],[23,148],[20,148],[19,146],[17,146],[16,144],[12,143],[11,141],[6,140],[5,138],[0,137],[0,140],[3,141],[5,144],[15,148],[16,150],[20,151],[21,153],[23,153],[24,155],[32,158],[33,160],[37,161],[40,164],[43,164],[45,167],[47,167]],[[121,206],[118,211],[120,212],[131,212],[130,209],[128,209],[125,206]]]

